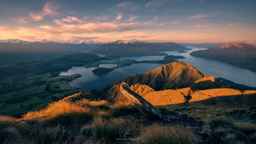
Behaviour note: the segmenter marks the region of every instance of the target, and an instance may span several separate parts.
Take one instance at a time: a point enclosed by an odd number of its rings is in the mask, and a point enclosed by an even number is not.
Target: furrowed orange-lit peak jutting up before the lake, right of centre
[[[211,88],[224,87],[221,81],[216,80],[214,77],[208,77],[192,65],[183,62],[172,62],[146,73],[115,81],[108,85],[104,91],[109,90],[121,82],[125,82],[129,86],[137,83],[148,85],[156,91],[186,87],[198,89],[208,89],[207,86]],[[202,86],[202,83],[204,83],[205,87]]]

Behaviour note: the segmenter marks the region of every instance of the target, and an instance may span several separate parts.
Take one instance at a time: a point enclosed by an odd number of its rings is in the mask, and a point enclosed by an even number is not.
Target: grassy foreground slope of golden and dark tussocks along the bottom
[[[147,118],[137,107],[73,95],[22,118],[0,117],[0,141],[10,143],[255,143],[256,123],[218,115],[191,116],[158,107],[170,122]],[[251,109],[254,109],[253,107]]]

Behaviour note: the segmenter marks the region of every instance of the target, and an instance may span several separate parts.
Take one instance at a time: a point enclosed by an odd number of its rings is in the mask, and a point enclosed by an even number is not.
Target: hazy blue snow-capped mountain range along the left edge
[[[28,42],[22,40],[0,41],[0,66],[17,62],[38,61],[67,54],[85,52],[92,48],[85,43],[69,44],[42,40]]]

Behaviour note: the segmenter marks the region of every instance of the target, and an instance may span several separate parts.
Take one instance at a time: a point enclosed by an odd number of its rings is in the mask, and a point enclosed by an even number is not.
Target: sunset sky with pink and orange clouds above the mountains
[[[256,43],[256,0],[0,0],[0,39]]]

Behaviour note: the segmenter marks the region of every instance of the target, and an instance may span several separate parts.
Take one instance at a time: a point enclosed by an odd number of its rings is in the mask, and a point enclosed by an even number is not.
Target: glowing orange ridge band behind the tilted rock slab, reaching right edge
[[[212,78],[209,78],[212,79]],[[213,79],[212,79],[213,80]],[[120,91],[122,85],[115,85],[115,89],[108,91],[106,100],[114,103],[132,104],[129,99]],[[127,85],[128,86],[128,85]],[[219,105],[222,107],[230,106],[255,106],[256,91],[239,91],[230,88],[216,88],[207,90],[195,90],[192,88],[169,89],[163,91],[154,91],[147,85],[136,84],[128,86],[133,92],[140,95],[143,99],[153,106],[160,105]],[[111,93],[112,92],[112,93]]]

